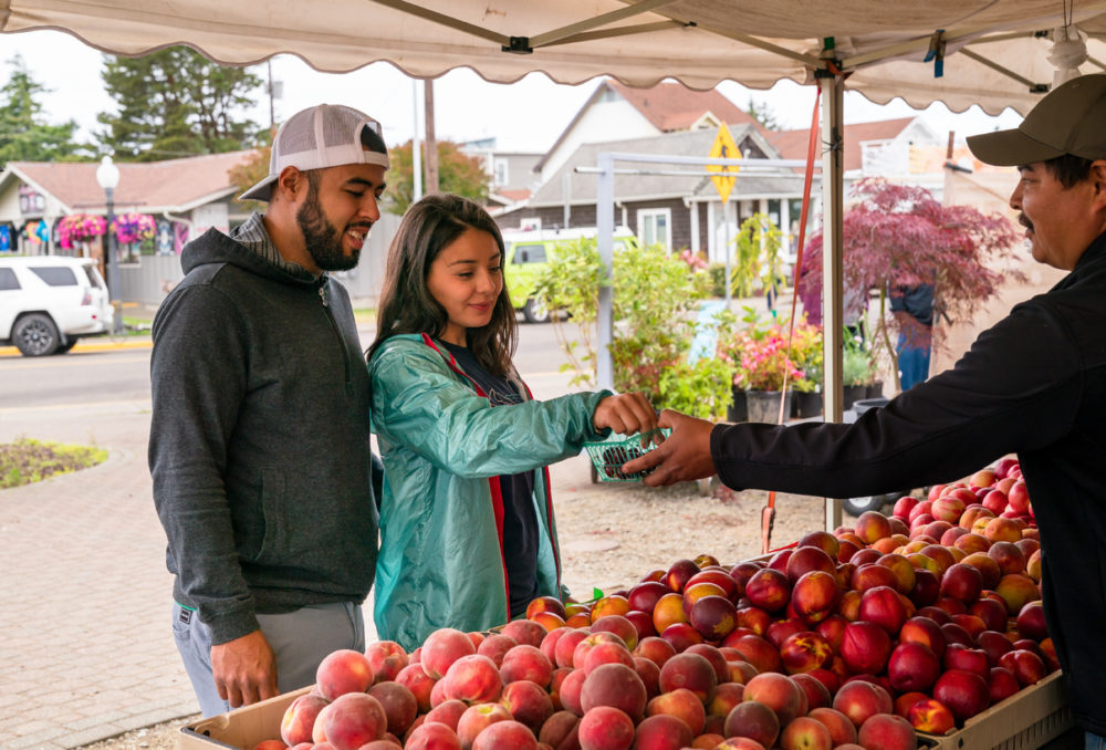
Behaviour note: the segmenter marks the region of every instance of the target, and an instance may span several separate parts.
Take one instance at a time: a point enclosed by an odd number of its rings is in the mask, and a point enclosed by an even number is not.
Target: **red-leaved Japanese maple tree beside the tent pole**
[[[1022,274],[999,270],[1012,256],[1018,235],[1013,223],[998,213],[970,206],[943,206],[929,190],[884,179],[857,181],[845,213],[844,288],[878,292],[879,308],[873,343],[891,361],[898,388],[898,357],[893,337],[904,316],[888,313],[888,293],[895,287],[935,284],[933,308],[953,320],[970,320],[1004,279]],[[818,299],[822,289],[822,232],[803,249],[799,291]],[[847,296],[847,295],[846,295]],[[909,317],[909,316],[905,316]],[[869,316],[872,320],[872,316]],[[911,319],[912,320],[912,319]],[[933,345],[941,341],[935,326]]]

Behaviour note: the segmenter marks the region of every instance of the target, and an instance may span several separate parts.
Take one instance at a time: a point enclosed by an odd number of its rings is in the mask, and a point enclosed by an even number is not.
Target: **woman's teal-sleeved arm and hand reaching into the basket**
[[[643,396],[605,390],[492,407],[417,342],[390,343],[371,371],[380,439],[462,477],[529,471],[575,456],[616,425],[633,430],[656,424]]]

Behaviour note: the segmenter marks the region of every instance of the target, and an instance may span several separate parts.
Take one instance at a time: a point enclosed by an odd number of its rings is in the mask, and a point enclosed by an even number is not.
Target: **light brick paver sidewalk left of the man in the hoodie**
[[[0,412],[0,441],[109,448],[97,467],[0,496],[0,746],[71,748],[196,712],[169,631],[149,404]]]

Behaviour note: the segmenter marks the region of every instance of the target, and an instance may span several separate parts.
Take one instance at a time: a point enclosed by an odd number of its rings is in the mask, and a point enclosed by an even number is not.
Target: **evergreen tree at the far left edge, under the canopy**
[[[8,162],[61,162],[76,158],[76,121],[48,124],[36,100],[48,88],[31,77],[23,58],[8,61],[11,74],[0,87],[0,168]]]

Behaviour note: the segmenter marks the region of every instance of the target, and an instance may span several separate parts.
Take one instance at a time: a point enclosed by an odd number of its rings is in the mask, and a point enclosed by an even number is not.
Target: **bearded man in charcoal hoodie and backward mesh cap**
[[[293,115],[268,201],[181,253],[154,320],[149,467],[168,539],[177,648],[206,716],[314,681],[365,646],[373,584],[369,387],[346,290],[385,187],[379,124]]]

